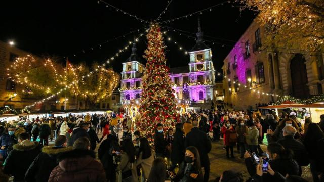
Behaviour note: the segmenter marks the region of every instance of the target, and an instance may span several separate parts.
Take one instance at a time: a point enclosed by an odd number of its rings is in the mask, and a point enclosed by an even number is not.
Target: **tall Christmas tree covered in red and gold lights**
[[[152,142],[157,123],[162,123],[165,129],[171,127],[176,117],[176,100],[171,87],[169,67],[166,66],[165,45],[160,27],[151,24],[146,37],[148,45],[144,58],[147,59],[147,63],[142,78],[140,108],[142,118],[137,124],[143,135]]]

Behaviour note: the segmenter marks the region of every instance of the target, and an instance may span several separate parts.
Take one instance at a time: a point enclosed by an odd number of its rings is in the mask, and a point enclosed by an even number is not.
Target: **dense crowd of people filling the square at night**
[[[132,118],[116,113],[2,122],[0,177],[4,181],[9,176],[14,181],[209,181],[211,143],[222,140],[229,162],[244,160],[249,181],[305,181],[301,167],[307,165],[313,181],[324,181],[324,115],[319,123],[306,118],[302,124],[294,113],[262,116],[222,107],[188,112],[179,115],[172,128],[157,123],[153,140],[133,130]],[[120,132],[117,125],[123,126]],[[54,145],[49,146],[49,140]],[[264,141],[266,150],[260,146]],[[243,178],[226,170],[215,181]]]

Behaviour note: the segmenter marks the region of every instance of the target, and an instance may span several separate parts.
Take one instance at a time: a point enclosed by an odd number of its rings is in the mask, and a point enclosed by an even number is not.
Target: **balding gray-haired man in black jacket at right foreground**
[[[294,152],[294,158],[299,165],[299,174],[302,174],[301,166],[307,166],[309,164],[309,158],[307,155],[306,148],[303,143],[294,139],[294,135],[297,130],[293,126],[284,127],[284,138],[277,141],[285,147],[285,149],[290,149]]]

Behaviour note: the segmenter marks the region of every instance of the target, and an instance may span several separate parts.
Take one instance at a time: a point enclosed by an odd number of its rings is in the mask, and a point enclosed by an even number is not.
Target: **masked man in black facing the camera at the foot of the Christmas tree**
[[[153,136],[156,157],[164,157],[166,144],[163,135],[163,124],[158,123],[156,126],[155,134]]]

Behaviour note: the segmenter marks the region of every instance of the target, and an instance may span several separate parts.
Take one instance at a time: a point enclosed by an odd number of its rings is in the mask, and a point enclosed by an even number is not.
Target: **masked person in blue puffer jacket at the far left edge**
[[[7,158],[7,149],[12,148],[12,146],[17,143],[14,136],[15,130],[16,128],[14,126],[10,126],[8,132],[5,131],[5,133],[0,136],[0,154],[4,160]]]

